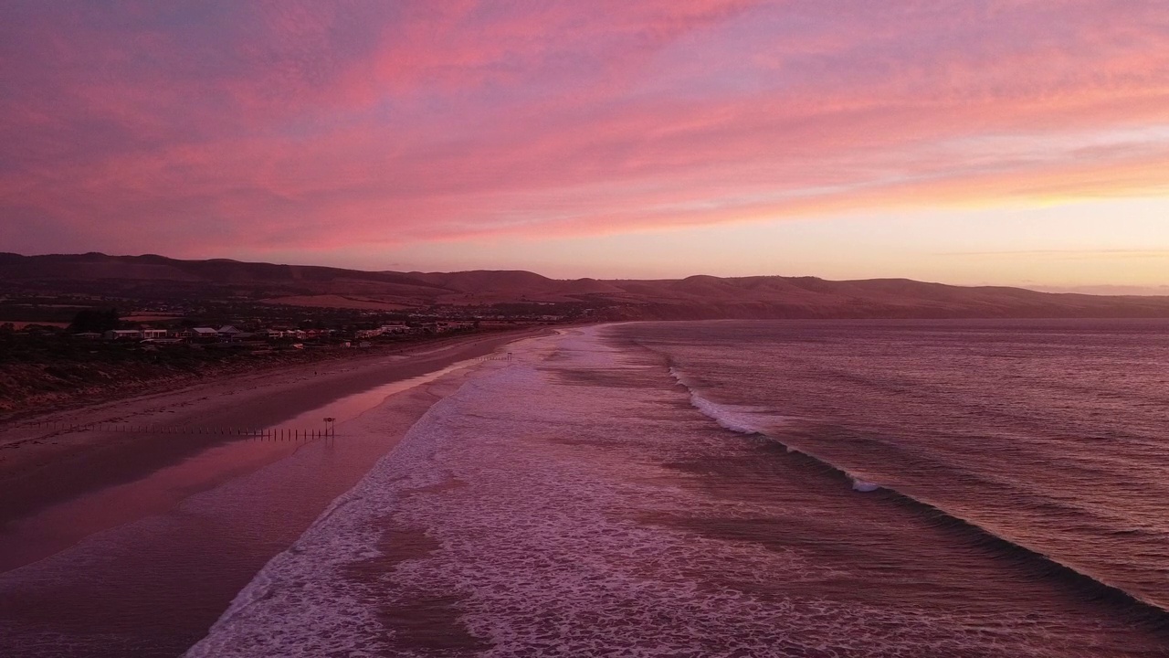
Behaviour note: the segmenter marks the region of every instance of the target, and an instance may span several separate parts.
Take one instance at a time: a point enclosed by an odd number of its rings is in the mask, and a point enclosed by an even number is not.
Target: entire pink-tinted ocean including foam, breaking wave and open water
[[[510,349],[188,656],[1169,656],[1169,323]]]

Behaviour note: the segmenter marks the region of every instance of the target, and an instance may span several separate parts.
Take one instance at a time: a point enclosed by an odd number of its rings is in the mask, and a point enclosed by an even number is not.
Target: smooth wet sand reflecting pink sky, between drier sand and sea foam
[[[395,451],[436,403],[484,368],[499,366],[486,362],[447,371],[339,423],[336,441],[303,443],[166,512],[0,573],[0,654],[184,654],[274,556],[295,546],[338,496]],[[241,445],[257,444],[222,447]],[[192,461],[199,460],[180,468]]]

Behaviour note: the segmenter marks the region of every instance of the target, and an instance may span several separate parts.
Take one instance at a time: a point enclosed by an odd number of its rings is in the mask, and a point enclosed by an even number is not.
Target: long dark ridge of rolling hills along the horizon
[[[0,253],[0,293],[36,292],[133,299],[228,296],[295,306],[368,304],[371,309],[577,303],[614,318],[1169,317],[1169,296],[1053,294],[908,279],[556,280],[524,270],[365,272],[155,254]]]

